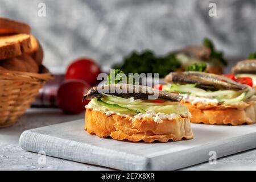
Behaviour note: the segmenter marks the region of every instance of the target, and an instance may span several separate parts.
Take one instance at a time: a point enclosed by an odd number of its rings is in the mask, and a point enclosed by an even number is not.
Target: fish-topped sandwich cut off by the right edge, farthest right
[[[247,60],[239,61],[233,68],[232,73],[236,79],[250,82],[256,88],[256,52],[249,55]]]

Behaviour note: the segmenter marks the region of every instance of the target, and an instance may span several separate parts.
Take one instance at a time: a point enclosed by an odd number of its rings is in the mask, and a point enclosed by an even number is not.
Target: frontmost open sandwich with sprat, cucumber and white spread
[[[148,86],[110,84],[93,87],[84,99],[85,130],[98,137],[138,142],[192,139],[190,113],[183,96]]]

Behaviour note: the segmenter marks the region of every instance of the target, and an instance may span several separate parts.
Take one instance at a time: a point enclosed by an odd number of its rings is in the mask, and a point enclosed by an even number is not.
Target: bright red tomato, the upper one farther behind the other
[[[82,58],[69,65],[65,78],[84,80],[90,85],[95,85],[100,73],[100,67],[93,60]]]

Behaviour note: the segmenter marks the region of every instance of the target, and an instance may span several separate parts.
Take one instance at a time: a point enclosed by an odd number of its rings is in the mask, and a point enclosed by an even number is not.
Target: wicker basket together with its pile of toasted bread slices
[[[42,48],[31,39],[27,24],[0,18],[0,128],[14,125],[53,78],[42,59]]]

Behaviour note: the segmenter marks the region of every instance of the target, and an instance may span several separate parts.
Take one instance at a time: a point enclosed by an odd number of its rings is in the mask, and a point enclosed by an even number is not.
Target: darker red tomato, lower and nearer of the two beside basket
[[[79,114],[85,110],[88,100],[82,103],[82,97],[90,89],[90,85],[82,80],[67,80],[57,91],[59,107],[67,114]]]

